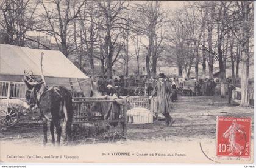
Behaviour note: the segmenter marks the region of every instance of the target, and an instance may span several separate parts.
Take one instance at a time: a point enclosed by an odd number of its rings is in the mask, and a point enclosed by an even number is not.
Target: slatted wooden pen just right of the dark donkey
[[[74,97],[73,98],[73,124],[85,123],[116,123],[121,124],[122,133],[126,135],[126,121],[127,121],[127,104],[126,99],[107,99],[92,98],[92,97]],[[113,106],[119,110],[119,115],[113,115]],[[104,113],[105,112],[105,113]],[[118,113],[117,111],[113,113]],[[112,118],[111,116],[115,116]]]

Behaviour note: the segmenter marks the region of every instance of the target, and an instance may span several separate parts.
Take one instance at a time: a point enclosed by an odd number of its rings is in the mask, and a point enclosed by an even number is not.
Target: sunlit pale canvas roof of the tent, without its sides
[[[0,44],[0,75],[24,75],[24,70],[32,70],[33,75],[40,76],[42,52],[44,54],[44,76],[88,78],[60,51],[30,49],[6,44]]]

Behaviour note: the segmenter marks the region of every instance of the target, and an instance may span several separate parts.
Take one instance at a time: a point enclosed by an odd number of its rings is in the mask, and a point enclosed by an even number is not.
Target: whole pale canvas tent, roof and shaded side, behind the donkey
[[[30,49],[15,45],[0,44],[0,81],[21,81],[24,70],[32,70],[41,76],[41,53],[43,52],[43,74],[46,84],[63,85],[70,89],[69,78],[78,78],[86,96],[91,93],[91,78],[81,72],[60,51]]]

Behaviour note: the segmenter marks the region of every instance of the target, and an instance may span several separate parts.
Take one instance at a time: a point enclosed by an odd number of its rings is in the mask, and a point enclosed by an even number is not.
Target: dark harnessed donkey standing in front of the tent
[[[43,144],[47,143],[47,121],[50,121],[52,144],[55,144],[54,126],[57,131],[57,145],[60,144],[62,127],[60,119],[66,119],[66,141],[71,141],[71,124],[73,119],[72,96],[68,89],[63,86],[46,87],[44,82],[29,80],[27,76],[23,79],[27,85],[26,99],[30,106],[40,109],[43,119]]]

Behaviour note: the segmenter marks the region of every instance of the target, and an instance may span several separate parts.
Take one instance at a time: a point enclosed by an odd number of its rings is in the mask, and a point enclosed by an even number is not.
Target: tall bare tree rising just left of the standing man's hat
[[[144,45],[148,52],[146,54],[147,76],[151,78],[152,75],[155,78],[157,59],[163,52],[163,43],[165,42],[166,12],[162,9],[160,1],[138,3],[135,11],[136,15],[133,16],[135,29],[140,30],[148,41],[148,44]]]

